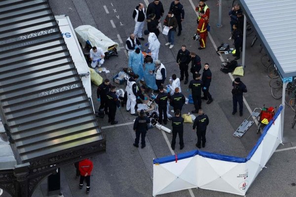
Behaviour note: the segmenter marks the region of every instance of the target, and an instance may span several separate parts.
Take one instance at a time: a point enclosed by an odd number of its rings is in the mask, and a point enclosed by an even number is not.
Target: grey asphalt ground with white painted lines
[[[147,0],[145,0],[147,1]],[[167,13],[171,1],[162,0]],[[80,25],[92,25],[105,33],[114,41],[124,47],[125,40],[134,30],[134,21],[132,12],[138,4],[136,0],[118,1],[118,0],[50,0],[50,5],[56,15],[66,14],[70,17],[74,28]],[[149,0],[151,2],[151,0]],[[260,65],[259,41],[253,48],[250,47],[253,36],[247,37],[246,47],[246,69],[245,76],[241,80],[247,85],[248,93],[245,94],[244,116],[239,117],[231,115],[232,97],[231,82],[232,76],[220,71],[221,61],[226,58],[220,58],[216,53],[217,45],[228,41],[230,25],[228,19],[228,10],[231,6],[231,0],[223,0],[222,4],[222,28],[216,27],[218,23],[218,5],[216,0],[208,0],[206,3],[211,8],[211,33],[207,40],[205,50],[197,50],[197,42],[191,39],[196,31],[196,13],[192,7],[191,0],[181,0],[185,9],[185,21],[183,23],[182,35],[175,37],[175,46],[169,49],[164,46],[167,37],[159,36],[161,43],[159,59],[167,68],[168,76],[173,73],[179,75],[179,68],[175,60],[178,50],[182,44],[186,44],[189,51],[197,52],[202,58],[202,64],[209,63],[213,73],[211,83],[211,94],[214,102],[207,105],[205,101],[202,107],[210,118],[210,125],[207,130],[207,144],[204,151],[245,157],[255,145],[259,135],[256,134],[256,127],[253,126],[242,138],[233,137],[233,132],[241,124],[244,118],[250,115],[250,109],[255,107],[278,106],[280,100],[275,100],[270,94],[269,79],[265,74],[265,69]],[[193,1],[194,5],[198,3]],[[106,9],[104,8],[106,6]],[[109,13],[107,13],[107,10]],[[114,27],[111,25],[111,20]],[[253,34],[254,35],[254,34]],[[146,41],[147,41],[147,37]],[[123,43],[122,43],[123,42]],[[144,42],[145,43],[145,42]],[[232,56],[229,56],[232,59]],[[119,51],[119,57],[111,57],[104,64],[111,73],[102,75],[103,78],[112,78],[122,67],[127,66],[127,57],[124,50]],[[118,86],[118,88],[124,88]],[[183,94],[188,96],[185,90],[187,87],[182,84]],[[96,87],[93,86],[93,100],[95,108],[98,108],[96,101]],[[191,111],[193,105],[184,107],[184,112]],[[266,164],[253,185],[248,190],[249,197],[294,197],[295,170],[296,169],[296,131],[291,129],[294,112],[287,108],[285,110],[284,144],[278,147],[278,152],[274,153],[270,161]],[[178,154],[195,149],[196,134],[192,131],[191,124],[185,124],[185,148],[181,151],[176,146],[173,152],[169,146],[172,134],[164,133],[157,129],[151,129],[147,134],[147,147],[137,149],[133,147],[135,133],[132,130],[134,117],[130,116],[125,109],[117,111],[116,119],[119,124],[124,126],[109,126],[105,119],[98,119],[102,126],[102,131],[107,135],[107,152],[103,155],[93,157],[94,170],[91,177],[90,197],[151,197],[152,196],[152,160],[153,158],[164,157],[171,154]],[[168,127],[171,128],[170,124]],[[178,143],[178,141],[177,141]],[[178,144],[177,144],[178,145]],[[283,151],[282,149],[290,148]],[[81,197],[85,194],[83,190],[78,189],[78,180],[74,179],[74,166],[69,165],[62,168],[62,193],[65,197]],[[34,197],[46,195],[46,182],[36,190]],[[192,189],[184,190],[171,194],[160,195],[161,197],[234,197],[221,192]]]

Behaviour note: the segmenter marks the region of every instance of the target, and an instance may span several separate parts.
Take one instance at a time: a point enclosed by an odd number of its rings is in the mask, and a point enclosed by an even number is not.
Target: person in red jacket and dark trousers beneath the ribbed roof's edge
[[[82,189],[84,178],[86,180],[86,194],[89,194],[90,190],[90,174],[93,169],[93,163],[89,159],[85,159],[79,162],[80,181],[79,188]]]

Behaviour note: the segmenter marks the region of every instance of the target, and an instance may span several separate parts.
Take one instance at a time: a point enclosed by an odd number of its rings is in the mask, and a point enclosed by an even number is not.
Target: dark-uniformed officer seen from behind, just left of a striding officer
[[[203,82],[200,78],[201,74],[197,73],[195,75],[195,79],[191,80],[188,86],[192,92],[192,99],[195,108],[195,110],[191,111],[192,113],[198,113],[198,110],[201,109],[201,88],[203,86]]]

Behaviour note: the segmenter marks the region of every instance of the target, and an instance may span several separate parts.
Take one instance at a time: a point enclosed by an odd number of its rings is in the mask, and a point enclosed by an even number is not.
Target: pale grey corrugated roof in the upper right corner
[[[240,0],[283,78],[296,76],[296,0]]]

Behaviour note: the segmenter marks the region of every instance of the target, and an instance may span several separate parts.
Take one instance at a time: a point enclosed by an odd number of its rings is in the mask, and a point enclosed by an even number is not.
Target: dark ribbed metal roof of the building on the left
[[[47,0],[0,1],[0,105],[23,163],[105,141]]]

